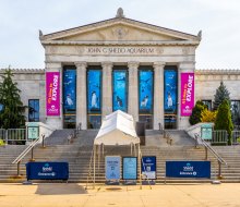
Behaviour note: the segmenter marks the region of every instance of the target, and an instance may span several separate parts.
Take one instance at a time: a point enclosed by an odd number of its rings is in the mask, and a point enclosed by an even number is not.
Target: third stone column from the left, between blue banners
[[[139,62],[129,62],[129,110],[128,113],[133,115],[134,121],[139,121]]]

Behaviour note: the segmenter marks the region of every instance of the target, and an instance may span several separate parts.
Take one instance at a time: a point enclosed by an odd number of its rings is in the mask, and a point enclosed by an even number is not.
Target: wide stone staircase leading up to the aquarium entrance
[[[175,132],[178,134],[177,132]],[[172,133],[172,134],[175,134]],[[36,161],[68,161],[70,167],[69,182],[86,182],[89,171],[89,160],[93,150],[93,142],[96,136],[96,130],[81,131],[72,143],[64,142],[53,144],[48,141],[46,148],[36,146],[34,149],[34,158]],[[171,135],[172,135],[171,134]],[[204,160],[205,150],[203,147],[195,148],[194,142],[189,137],[184,137],[183,145],[180,144],[180,137],[172,135],[172,145],[166,144],[166,139],[158,131],[148,131],[146,133],[146,146],[141,146],[143,156],[157,157],[157,182],[165,181],[165,162],[166,160]],[[189,142],[188,142],[189,141]],[[47,143],[47,141],[46,141]],[[22,182],[25,180],[25,163],[28,162],[31,155],[27,155],[21,162],[22,179],[14,180],[16,174],[16,165],[11,162],[25,148],[25,146],[5,146],[0,147],[0,182]],[[223,182],[240,182],[240,147],[214,147],[228,162],[223,166]],[[131,149],[128,146],[105,147],[105,155],[131,156]],[[208,153],[208,160],[212,161],[212,179],[217,179],[218,165],[216,159]],[[140,165],[139,165],[140,166]],[[93,172],[93,167],[92,167]],[[91,178],[88,178],[91,181]],[[105,160],[101,156],[96,162],[96,182],[105,182]],[[209,182],[209,180],[177,180],[168,179],[167,182]]]

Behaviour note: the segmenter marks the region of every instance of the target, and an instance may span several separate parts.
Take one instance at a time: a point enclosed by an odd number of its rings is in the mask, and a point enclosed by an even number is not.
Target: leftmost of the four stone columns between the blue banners
[[[76,124],[82,124],[82,130],[87,129],[86,108],[86,62],[75,62],[76,65]]]

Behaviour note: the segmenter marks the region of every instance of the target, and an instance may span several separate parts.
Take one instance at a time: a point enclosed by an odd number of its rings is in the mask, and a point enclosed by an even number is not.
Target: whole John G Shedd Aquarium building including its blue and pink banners
[[[28,121],[99,129],[122,110],[147,129],[185,129],[196,100],[212,106],[220,81],[239,113],[239,70],[195,70],[202,35],[116,17],[44,35],[46,68],[13,70]],[[1,70],[0,73],[3,73]]]

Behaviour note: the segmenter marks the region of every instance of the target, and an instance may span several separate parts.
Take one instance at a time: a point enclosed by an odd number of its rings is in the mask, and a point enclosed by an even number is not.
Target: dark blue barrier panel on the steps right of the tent
[[[166,176],[211,179],[209,161],[166,161]]]

